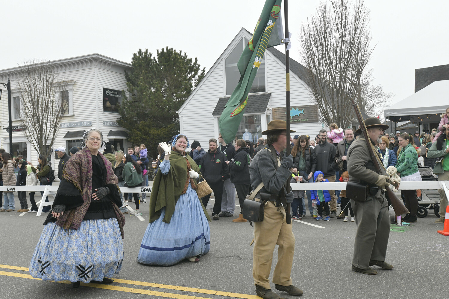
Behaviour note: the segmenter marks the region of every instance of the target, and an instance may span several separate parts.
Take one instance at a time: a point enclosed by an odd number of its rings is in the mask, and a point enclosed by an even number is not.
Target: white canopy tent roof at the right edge
[[[383,110],[384,117],[444,113],[449,107],[449,80],[435,81]]]

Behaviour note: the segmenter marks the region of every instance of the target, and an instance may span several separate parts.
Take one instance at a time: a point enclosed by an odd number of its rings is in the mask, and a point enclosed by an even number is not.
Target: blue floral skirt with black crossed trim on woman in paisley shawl
[[[42,280],[102,281],[118,274],[123,243],[117,219],[83,220],[78,230],[45,225],[30,263],[30,274]]]

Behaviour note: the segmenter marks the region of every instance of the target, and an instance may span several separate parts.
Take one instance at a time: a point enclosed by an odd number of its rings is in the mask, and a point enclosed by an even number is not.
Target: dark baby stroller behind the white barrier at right
[[[423,181],[438,181],[431,167],[419,167],[419,174]],[[436,217],[440,217],[440,193],[435,189],[421,190],[421,200],[418,200],[418,212],[416,216],[424,218],[427,216],[427,208],[432,209]]]

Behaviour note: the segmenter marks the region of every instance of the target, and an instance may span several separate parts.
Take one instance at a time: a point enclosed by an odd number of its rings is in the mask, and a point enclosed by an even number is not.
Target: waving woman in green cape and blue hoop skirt
[[[209,251],[210,221],[195,191],[199,168],[185,149],[189,139],[179,134],[172,143],[159,143],[164,160],[154,178],[150,198],[150,224],[137,261],[171,266],[181,260],[198,262]]]

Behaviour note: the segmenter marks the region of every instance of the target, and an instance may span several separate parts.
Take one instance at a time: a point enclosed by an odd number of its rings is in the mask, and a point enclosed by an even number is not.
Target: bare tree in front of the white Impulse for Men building
[[[46,61],[26,61],[20,73],[20,105],[15,108],[26,127],[23,132],[36,152],[48,156],[62,116],[68,113],[67,82]]]

